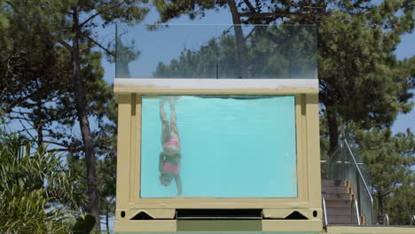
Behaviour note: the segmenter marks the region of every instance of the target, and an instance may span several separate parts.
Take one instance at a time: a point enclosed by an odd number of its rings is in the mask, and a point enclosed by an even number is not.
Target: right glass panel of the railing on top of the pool
[[[219,78],[317,79],[311,26],[218,26]]]

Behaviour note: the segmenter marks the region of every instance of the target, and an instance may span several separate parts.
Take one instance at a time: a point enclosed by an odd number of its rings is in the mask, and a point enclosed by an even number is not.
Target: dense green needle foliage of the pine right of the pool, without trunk
[[[400,30],[365,26],[370,14],[333,12],[318,29],[320,101],[364,129],[390,126],[411,110],[411,74],[393,54]]]

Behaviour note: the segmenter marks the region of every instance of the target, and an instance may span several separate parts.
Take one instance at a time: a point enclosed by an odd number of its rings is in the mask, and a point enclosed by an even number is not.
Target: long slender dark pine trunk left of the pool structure
[[[98,204],[98,190],[97,190],[97,178],[96,178],[96,160],[94,155],[94,145],[92,143],[92,136],[90,134],[90,122],[88,121],[88,115],[86,110],[86,90],[85,83],[81,77],[81,58],[79,55],[79,41],[80,41],[80,28],[79,28],[79,12],[74,8],[74,39],[72,47],[72,69],[73,69],[73,82],[74,82],[74,99],[76,105],[77,117],[82,134],[82,142],[85,152],[85,160],[87,167],[87,183],[88,183],[88,197],[89,197],[89,212],[94,216],[96,222],[97,233],[101,232],[99,221],[99,204]]]

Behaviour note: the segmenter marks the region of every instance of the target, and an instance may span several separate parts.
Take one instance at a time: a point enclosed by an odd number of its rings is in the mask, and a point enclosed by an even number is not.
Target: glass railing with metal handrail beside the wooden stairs
[[[363,160],[356,153],[356,149],[350,147],[347,141],[343,141],[338,149],[330,155],[329,160],[321,161],[322,179],[348,181],[355,194],[358,214],[364,218],[368,225],[373,224],[373,199],[371,176],[364,167]],[[352,204],[353,205],[353,204]],[[355,206],[351,207],[351,214],[356,214]],[[353,219],[354,224],[356,219]]]

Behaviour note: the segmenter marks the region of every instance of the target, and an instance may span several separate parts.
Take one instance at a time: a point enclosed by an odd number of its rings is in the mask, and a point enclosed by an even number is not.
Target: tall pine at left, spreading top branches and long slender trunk
[[[86,160],[89,211],[99,223],[96,157],[93,136],[88,118],[88,76],[82,74],[82,54],[98,47],[110,56],[114,52],[93,35],[94,28],[106,27],[114,22],[139,22],[148,10],[142,7],[146,1],[22,1],[2,3],[5,12],[11,12],[20,20],[32,22],[37,35],[64,47],[71,55],[71,80],[77,121],[82,133],[82,148]],[[97,231],[100,227],[97,226]]]

